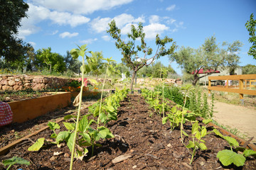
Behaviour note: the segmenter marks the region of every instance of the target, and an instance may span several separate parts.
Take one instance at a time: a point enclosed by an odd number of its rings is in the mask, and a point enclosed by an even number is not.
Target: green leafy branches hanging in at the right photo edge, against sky
[[[252,55],[252,57],[256,60],[256,35],[255,35],[255,26],[256,20],[253,19],[253,13],[250,15],[250,20],[245,23],[245,27],[249,31],[249,42],[252,43],[252,47],[248,51],[248,55]]]

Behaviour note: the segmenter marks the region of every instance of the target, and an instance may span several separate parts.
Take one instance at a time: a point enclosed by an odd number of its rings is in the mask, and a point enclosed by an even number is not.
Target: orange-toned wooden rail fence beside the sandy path
[[[225,81],[225,86],[211,86],[211,81],[213,80]],[[238,84],[230,84],[230,81],[238,81]],[[250,84],[247,85],[247,82],[250,82]],[[211,90],[228,91],[231,93],[239,94],[240,99],[243,99],[244,94],[256,95],[256,90],[252,89],[253,87],[255,87],[255,85],[252,85],[252,82],[255,84],[256,74],[208,77],[208,93],[210,94]],[[250,87],[250,89],[247,89],[248,86]]]

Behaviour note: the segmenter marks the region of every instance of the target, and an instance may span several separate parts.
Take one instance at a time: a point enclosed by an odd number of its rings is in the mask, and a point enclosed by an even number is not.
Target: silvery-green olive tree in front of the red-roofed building
[[[225,46],[228,46],[225,48]],[[178,52],[169,55],[169,60],[176,61],[187,74],[193,74],[192,84],[195,86],[197,81],[202,77],[206,77],[220,67],[233,70],[238,67],[239,59],[238,51],[242,43],[235,41],[232,44],[223,42],[223,48],[219,48],[216,38],[206,38],[204,44],[198,49],[191,47],[181,47]],[[206,74],[199,76],[199,70],[203,69]]]

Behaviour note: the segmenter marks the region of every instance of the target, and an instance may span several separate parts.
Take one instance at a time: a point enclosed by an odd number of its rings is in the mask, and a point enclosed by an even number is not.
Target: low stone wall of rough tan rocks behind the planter
[[[58,77],[41,77],[27,75],[0,75],[1,91],[17,91],[21,89],[43,90],[48,88],[60,88],[70,79]]]

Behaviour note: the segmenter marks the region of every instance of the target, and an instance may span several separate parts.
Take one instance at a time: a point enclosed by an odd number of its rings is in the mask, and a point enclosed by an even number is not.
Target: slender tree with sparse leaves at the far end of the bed
[[[131,26],[131,32],[128,33],[128,38],[132,39],[128,42],[124,42],[121,38],[121,30],[117,28],[115,21],[111,21],[109,23],[109,30],[107,30],[107,33],[110,34],[112,38],[115,40],[115,45],[117,49],[122,51],[122,62],[127,64],[127,67],[132,69],[132,81],[130,89],[132,91],[134,78],[139,69],[142,69],[144,66],[148,66],[151,63],[153,63],[155,60],[159,59],[159,57],[163,57],[165,55],[171,55],[172,52],[174,52],[176,43],[173,42],[172,38],[168,38],[167,36],[164,39],[159,38],[159,35],[156,35],[156,53],[150,58],[147,58],[146,56],[152,55],[152,48],[146,46],[146,42],[144,41],[145,33],[143,31],[142,23],[139,23],[138,28],[135,28],[134,25]],[[140,40],[140,45],[136,45],[136,41]],[[172,45],[166,49],[166,44],[173,42]],[[137,60],[139,52],[144,53],[144,57],[141,57],[139,60]]]

